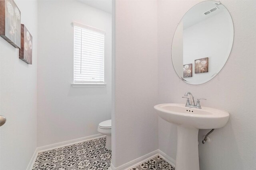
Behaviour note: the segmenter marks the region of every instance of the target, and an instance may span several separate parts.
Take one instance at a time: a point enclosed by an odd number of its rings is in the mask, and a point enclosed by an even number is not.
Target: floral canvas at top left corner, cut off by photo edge
[[[20,10],[14,0],[0,0],[0,36],[20,48]]]

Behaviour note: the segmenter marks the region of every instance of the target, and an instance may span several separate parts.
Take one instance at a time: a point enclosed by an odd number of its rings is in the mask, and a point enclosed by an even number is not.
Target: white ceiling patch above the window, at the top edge
[[[112,0],[78,0],[84,4],[112,14]]]

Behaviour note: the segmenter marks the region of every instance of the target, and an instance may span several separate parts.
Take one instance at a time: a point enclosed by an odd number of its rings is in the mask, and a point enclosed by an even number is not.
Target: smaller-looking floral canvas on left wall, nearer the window
[[[19,58],[32,64],[32,35],[24,24],[21,24],[21,47]]]

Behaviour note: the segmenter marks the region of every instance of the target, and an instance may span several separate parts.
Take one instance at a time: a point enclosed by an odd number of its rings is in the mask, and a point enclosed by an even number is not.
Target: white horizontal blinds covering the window
[[[74,83],[104,83],[104,37],[74,23]]]

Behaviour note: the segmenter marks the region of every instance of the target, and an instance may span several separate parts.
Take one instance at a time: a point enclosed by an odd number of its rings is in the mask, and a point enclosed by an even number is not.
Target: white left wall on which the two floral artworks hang
[[[36,149],[37,1],[15,0],[33,36],[32,65],[19,59],[19,50],[0,38],[1,170],[25,170]]]

